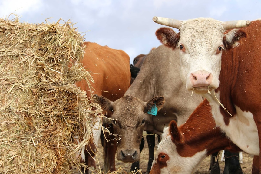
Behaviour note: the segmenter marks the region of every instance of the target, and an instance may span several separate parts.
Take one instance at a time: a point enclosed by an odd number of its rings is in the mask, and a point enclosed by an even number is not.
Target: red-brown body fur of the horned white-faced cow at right
[[[259,151],[261,152],[261,65],[260,65],[260,29],[261,21],[252,21],[251,25],[241,28],[248,35],[239,48],[233,48],[222,54],[223,67],[220,72],[220,102],[229,112],[235,116],[234,105],[242,111],[250,111],[253,114],[259,134]],[[230,68],[226,68],[230,67]],[[233,74],[231,76],[230,74]],[[230,96],[230,97],[227,97]],[[229,124],[231,116],[220,108],[226,125]],[[258,162],[257,162],[258,161]],[[254,158],[252,173],[261,171],[261,160]]]

